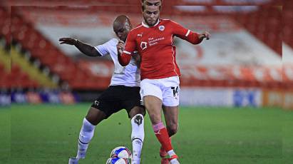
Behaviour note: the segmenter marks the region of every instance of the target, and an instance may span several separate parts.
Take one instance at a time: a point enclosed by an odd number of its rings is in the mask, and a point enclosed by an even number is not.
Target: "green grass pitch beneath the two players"
[[[0,163],[68,163],[89,103],[0,108]],[[96,128],[86,159],[106,163],[119,145],[131,148],[130,121],[115,113]],[[173,146],[183,164],[293,163],[293,112],[280,108],[180,108]],[[142,164],[160,163],[160,145],[145,117]]]

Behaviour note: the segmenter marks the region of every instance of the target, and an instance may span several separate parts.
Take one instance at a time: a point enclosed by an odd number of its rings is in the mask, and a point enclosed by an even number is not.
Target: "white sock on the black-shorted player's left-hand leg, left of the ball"
[[[96,126],[92,125],[90,122],[83,118],[83,126],[81,127],[81,132],[78,138],[78,151],[76,158],[85,158],[86,150],[88,149],[88,143],[90,143],[91,138],[93,138],[93,133]]]

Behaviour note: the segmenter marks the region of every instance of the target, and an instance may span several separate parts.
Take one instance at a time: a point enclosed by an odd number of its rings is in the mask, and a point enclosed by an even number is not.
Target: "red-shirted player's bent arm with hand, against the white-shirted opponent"
[[[131,55],[135,50],[135,39],[131,38],[130,33],[127,36],[126,43],[124,41],[118,41],[117,52],[118,52],[118,61],[121,66],[127,66],[130,62]]]

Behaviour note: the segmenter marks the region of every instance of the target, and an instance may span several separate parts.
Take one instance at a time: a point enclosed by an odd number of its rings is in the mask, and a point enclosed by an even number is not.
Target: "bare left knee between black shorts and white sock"
[[[99,110],[98,108],[91,107],[86,115],[86,120],[93,125],[98,125],[103,119],[106,118],[106,113]]]

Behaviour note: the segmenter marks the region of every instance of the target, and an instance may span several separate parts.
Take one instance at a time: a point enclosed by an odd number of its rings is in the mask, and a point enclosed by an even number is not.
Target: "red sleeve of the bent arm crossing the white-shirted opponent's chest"
[[[118,61],[121,66],[127,66],[131,59],[131,54],[136,50],[135,35],[132,31],[128,33],[125,50],[122,54],[118,55]]]

